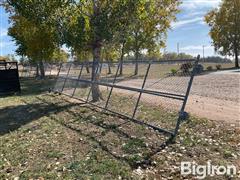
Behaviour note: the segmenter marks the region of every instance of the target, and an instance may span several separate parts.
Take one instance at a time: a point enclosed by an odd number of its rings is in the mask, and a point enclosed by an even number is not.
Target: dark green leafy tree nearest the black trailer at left
[[[49,60],[59,48],[56,22],[54,19],[65,1],[3,0],[11,14],[12,27],[9,35],[15,40],[16,53],[28,56],[39,66],[41,78],[45,77],[44,61]]]

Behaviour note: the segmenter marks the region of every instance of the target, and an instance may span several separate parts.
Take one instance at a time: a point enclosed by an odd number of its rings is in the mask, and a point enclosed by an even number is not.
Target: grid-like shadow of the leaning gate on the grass
[[[38,100],[58,109],[58,103],[50,103],[43,98],[38,98]],[[103,119],[89,118],[89,116],[84,116],[84,113],[79,110],[68,108],[64,109],[64,111],[70,117],[78,117],[76,121],[61,121],[56,116],[51,116],[50,118],[86,137],[89,141],[98,144],[101,150],[117,160],[128,163],[132,169],[136,169],[139,166],[143,168],[154,166],[152,157],[173,143],[172,137],[164,135],[160,137],[159,132],[154,132],[149,128],[142,128],[142,125],[136,125],[128,119],[123,119],[107,112],[103,113],[101,110],[83,103],[79,103],[79,106],[75,107],[89,109],[91,116],[95,115],[97,117],[100,116],[100,113],[105,114],[105,116],[103,115]],[[114,119],[110,118],[109,120],[109,116]],[[142,138],[144,136],[151,138]],[[115,141],[118,143],[115,144]],[[124,146],[121,147],[121,144],[124,144]]]

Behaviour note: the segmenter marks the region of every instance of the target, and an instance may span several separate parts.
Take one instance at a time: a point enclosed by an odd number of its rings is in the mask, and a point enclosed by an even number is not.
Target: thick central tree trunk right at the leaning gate
[[[92,65],[92,81],[98,82],[100,78],[99,74],[99,62],[101,55],[101,46],[95,45],[93,48],[93,65]],[[92,101],[97,102],[102,99],[101,92],[98,84],[92,84]]]

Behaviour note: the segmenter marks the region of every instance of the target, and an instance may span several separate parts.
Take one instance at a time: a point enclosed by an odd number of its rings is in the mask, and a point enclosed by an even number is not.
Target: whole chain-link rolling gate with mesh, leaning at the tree
[[[174,138],[188,115],[185,106],[199,59],[200,56],[191,60],[141,61],[137,65],[130,61],[100,63],[96,69],[96,81],[91,77],[92,63],[64,63],[52,92],[80,100]],[[135,75],[136,66],[138,75]],[[99,102],[92,102],[93,85],[98,85],[101,91]],[[152,109],[159,111],[157,117],[144,119]],[[178,113],[172,116],[174,112]]]

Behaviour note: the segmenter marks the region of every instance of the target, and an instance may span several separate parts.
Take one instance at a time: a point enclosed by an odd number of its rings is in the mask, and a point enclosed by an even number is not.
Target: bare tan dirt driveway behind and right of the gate
[[[154,79],[148,80],[149,83],[155,81]],[[173,79],[172,82],[174,81],[177,82],[178,80]],[[139,87],[141,83],[141,80],[129,80],[119,84]],[[173,89],[173,84],[176,86],[176,83],[162,83],[162,85],[153,86],[151,89],[164,89],[169,92],[170,89]],[[181,87],[176,90],[180,93],[184,92],[184,88]],[[149,95],[143,95],[142,99],[151,104],[169,106],[169,99]],[[176,108],[179,107],[176,106]],[[240,127],[239,70],[219,71],[196,76],[186,111],[198,117],[222,121]]]

